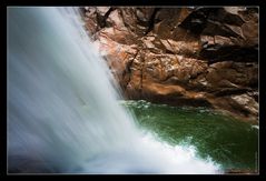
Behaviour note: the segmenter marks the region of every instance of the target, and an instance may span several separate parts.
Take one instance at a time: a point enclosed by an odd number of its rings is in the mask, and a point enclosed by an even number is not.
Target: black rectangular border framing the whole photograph
[[[265,94],[266,91],[264,90],[264,86],[266,82],[265,80],[265,76],[263,76],[264,73],[264,68],[265,68],[265,48],[264,46],[266,44],[265,42],[265,24],[266,24],[266,12],[264,9],[264,6],[266,1],[264,0],[252,0],[252,1],[247,1],[247,0],[223,0],[223,1],[203,1],[203,0],[183,0],[183,1],[152,1],[152,0],[146,0],[145,2],[137,2],[136,0],[114,0],[114,1],[102,1],[102,0],[58,0],[58,1],[52,1],[52,0],[36,0],[36,1],[16,1],[16,0],[9,0],[6,1],[3,3],[0,4],[1,8],[1,21],[2,21],[2,28],[1,28],[1,36],[2,36],[2,51],[1,51],[1,56],[2,56],[2,66],[1,66],[1,82],[3,84],[1,92],[2,92],[2,109],[1,109],[1,117],[2,117],[2,121],[1,121],[1,161],[0,161],[0,177],[4,175],[4,177],[18,177],[21,174],[7,174],[7,7],[23,7],[23,6],[30,6],[30,7],[35,7],[35,6],[45,6],[45,7],[53,7],[53,6],[164,6],[164,7],[177,7],[177,6],[257,6],[259,7],[259,174],[217,174],[220,178],[228,178],[228,177],[256,177],[256,178],[260,178],[260,177],[265,177],[266,170],[265,170],[265,161],[266,161],[266,150],[265,150],[265,129],[266,129],[266,124],[265,124],[265,108],[266,108],[266,100],[265,100]],[[6,40],[6,41],[3,41]],[[4,51],[3,48],[6,47]],[[6,60],[6,61],[4,61]],[[6,95],[6,97],[4,97]],[[31,177],[38,177],[38,175],[42,175],[43,174],[22,174],[24,175],[31,175]],[[51,174],[51,175],[59,175],[59,177],[72,177],[72,175],[85,175],[85,174]],[[96,177],[97,174],[90,174],[90,177]],[[108,174],[104,174],[101,177],[107,177]],[[125,175],[134,175],[137,177],[138,174],[125,174]],[[45,177],[50,177],[50,174],[47,174]],[[117,174],[112,174],[112,177],[117,177]],[[156,174],[156,177],[161,177],[160,174]],[[195,177],[195,175],[189,175],[189,177]],[[209,175],[210,178],[215,178],[218,179],[218,177],[216,175]]]

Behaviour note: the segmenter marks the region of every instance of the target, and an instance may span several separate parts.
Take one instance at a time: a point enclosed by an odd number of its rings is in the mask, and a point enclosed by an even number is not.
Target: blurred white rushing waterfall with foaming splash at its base
[[[193,147],[142,134],[77,10],[8,8],[11,172],[216,173]]]

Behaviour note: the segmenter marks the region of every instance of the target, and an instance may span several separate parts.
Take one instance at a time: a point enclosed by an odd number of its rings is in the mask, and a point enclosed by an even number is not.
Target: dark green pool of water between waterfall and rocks
[[[147,101],[122,103],[140,129],[169,144],[194,145],[198,157],[211,158],[224,170],[258,169],[258,127],[207,108],[169,107]]]

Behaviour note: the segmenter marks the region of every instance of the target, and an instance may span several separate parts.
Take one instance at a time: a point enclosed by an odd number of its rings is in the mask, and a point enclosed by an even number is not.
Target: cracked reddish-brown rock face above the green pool
[[[258,9],[81,8],[122,92],[258,117]]]

